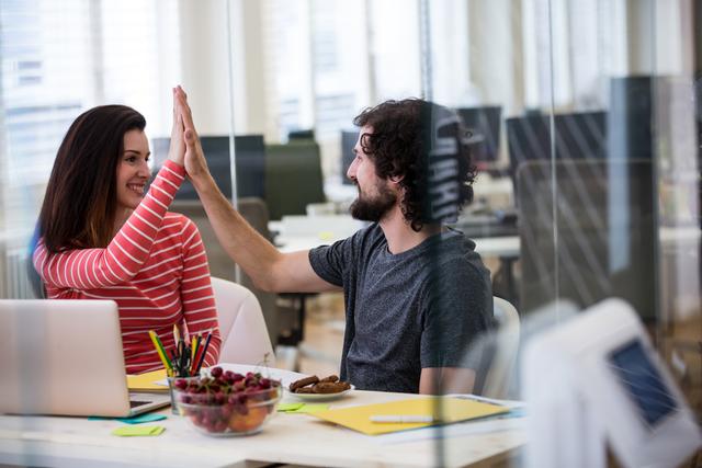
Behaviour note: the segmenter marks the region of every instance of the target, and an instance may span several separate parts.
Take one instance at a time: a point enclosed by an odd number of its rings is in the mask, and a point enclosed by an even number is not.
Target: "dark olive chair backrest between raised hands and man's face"
[[[325,202],[319,146],[314,140],[265,146],[265,204],[271,219],[304,215]]]

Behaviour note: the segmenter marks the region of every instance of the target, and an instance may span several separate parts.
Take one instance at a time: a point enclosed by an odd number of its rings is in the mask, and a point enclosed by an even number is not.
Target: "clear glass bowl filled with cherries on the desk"
[[[178,380],[181,380],[180,385]],[[280,381],[268,381],[270,388],[264,389],[192,392],[192,387],[202,383],[202,378],[182,378],[173,386],[173,399],[179,414],[204,434],[217,437],[250,435],[260,432],[275,414],[283,395]]]

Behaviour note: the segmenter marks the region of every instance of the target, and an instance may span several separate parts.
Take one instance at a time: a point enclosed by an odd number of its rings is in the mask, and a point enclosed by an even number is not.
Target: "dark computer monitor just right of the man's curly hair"
[[[502,107],[460,107],[456,113],[471,132],[473,163],[479,170],[494,165],[499,158]]]

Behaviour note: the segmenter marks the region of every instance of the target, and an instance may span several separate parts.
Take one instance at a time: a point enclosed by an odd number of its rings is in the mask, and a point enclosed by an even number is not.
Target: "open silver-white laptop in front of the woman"
[[[0,299],[0,414],[131,416],[170,403],[129,393],[112,300]]]

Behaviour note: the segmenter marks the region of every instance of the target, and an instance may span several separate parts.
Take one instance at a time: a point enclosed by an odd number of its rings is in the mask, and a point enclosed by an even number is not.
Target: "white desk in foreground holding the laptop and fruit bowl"
[[[353,391],[331,408],[411,398],[403,393]],[[435,466],[437,441],[398,442],[366,436],[306,414],[276,414],[263,431],[245,437],[210,437],[173,416],[156,423],[166,431],[156,437],[116,437],[117,421],[84,418],[0,416],[0,465],[93,467],[257,467],[265,463],[324,467]],[[525,442],[522,419],[453,424],[443,438],[445,466],[489,466],[514,455]],[[473,426],[469,426],[473,424]],[[486,427],[480,432],[480,427]],[[421,430],[426,431],[426,430]],[[421,432],[420,431],[420,432]],[[415,431],[417,433],[417,431]],[[385,437],[385,438],[383,438]],[[390,438],[388,438],[390,437]]]

